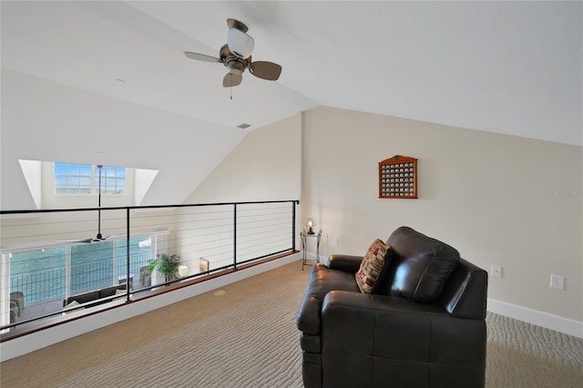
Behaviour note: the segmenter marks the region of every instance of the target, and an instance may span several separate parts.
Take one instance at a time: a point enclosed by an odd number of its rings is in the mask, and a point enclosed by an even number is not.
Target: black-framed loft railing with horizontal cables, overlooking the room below
[[[60,316],[72,309],[64,301],[79,294],[115,286],[130,301],[167,284],[292,252],[298,204],[2,210],[0,332]],[[104,240],[97,240],[98,232]],[[148,272],[163,253],[179,256],[179,279]]]

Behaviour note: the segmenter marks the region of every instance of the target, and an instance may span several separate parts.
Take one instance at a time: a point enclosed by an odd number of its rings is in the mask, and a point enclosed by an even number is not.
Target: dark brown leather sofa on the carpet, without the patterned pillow
[[[483,387],[487,273],[408,227],[386,241],[380,284],[355,281],[363,257],[312,268],[297,317],[306,387]]]

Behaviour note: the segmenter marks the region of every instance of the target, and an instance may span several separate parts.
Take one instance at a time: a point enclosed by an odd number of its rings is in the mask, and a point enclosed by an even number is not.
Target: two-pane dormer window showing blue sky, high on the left
[[[99,190],[99,168],[90,164],[55,162],[56,195],[91,195]],[[101,194],[126,194],[126,168],[101,168]]]

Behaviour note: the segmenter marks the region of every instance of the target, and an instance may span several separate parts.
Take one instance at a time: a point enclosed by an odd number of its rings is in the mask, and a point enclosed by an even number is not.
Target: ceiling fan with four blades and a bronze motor
[[[205,62],[221,63],[229,69],[229,73],[223,78],[223,87],[236,87],[243,80],[242,73],[245,68],[249,72],[268,81],[276,81],[281,75],[281,66],[267,61],[251,61],[251,53],[255,46],[255,41],[247,35],[247,26],[239,20],[227,19],[229,34],[227,44],[220,47],[219,57],[207,56],[199,53],[185,51],[184,55],[190,59],[197,59]]]

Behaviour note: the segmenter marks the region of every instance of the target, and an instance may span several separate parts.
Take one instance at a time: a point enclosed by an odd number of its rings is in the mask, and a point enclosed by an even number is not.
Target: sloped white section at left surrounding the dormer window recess
[[[18,159],[158,169],[141,204],[181,203],[246,134],[6,69],[2,106],[2,209],[36,209]]]

